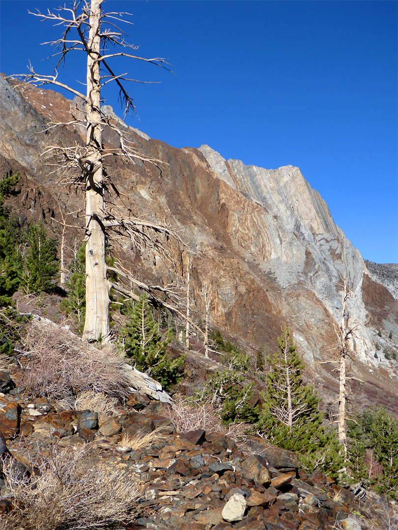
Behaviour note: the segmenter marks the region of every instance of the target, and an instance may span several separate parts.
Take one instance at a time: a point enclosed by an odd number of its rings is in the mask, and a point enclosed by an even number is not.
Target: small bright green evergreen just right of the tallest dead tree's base
[[[143,294],[139,302],[128,302],[123,311],[129,324],[122,330],[126,355],[131,357],[135,367],[148,372],[165,388],[177,383],[186,355],[178,359],[167,357],[166,347],[171,341],[170,330],[165,339],[159,333],[159,326],[153,320],[148,296]]]

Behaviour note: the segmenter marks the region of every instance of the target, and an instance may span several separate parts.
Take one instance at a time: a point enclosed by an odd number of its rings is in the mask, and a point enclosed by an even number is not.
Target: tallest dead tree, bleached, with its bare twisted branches
[[[117,27],[128,13],[105,13],[101,10],[104,0],[75,0],[71,7],[59,7],[53,13],[32,13],[43,20],[53,21],[55,25],[64,27],[60,39],[49,42],[57,51],[52,57],[58,57],[54,75],[39,75],[30,66],[30,74],[19,76],[25,83],[38,86],[55,85],[68,90],[84,102],[82,116],[74,116],[67,123],[55,123],[51,127],[84,126],[86,142],[84,145],[60,147],[52,145],[46,149],[45,155],[55,158],[57,167],[63,167],[65,175],[74,175],[69,183],[81,187],[85,193],[85,272],[86,272],[86,317],[83,337],[88,340],[107,341],[110,338],[109,328],[109,291],[113,287],[108,280],[106,264],[107,232],[111,229],[124,235],[137,236],[144,245],[153,242],[148,229],[162,232],[163,227],[153,226],[129,214],[118,215],[107,207],[105,195],[113,183],[106,171],[109,157],[123,156],[127,161],[136,159],[143,162],[157,163],[138,152],[129,142],[127,135],[115,120],[109,119],[101,111],[101,91],[103,87],[114,82],[119,89],[119,98],[124,106],[124,115],[134,111],[133,99],[126,92],[126,74],[116,74],[109,65],[114,57],[139,59],[169,69],[169,65],[161,58],[145,59],[136,56],[136,46],[125,41],[126,34]],[[109,48],[112,48],[109,51]],[[58,80],[58,66],[72,51],[80,51],[86,55],[86,93],[83,94]],[[105,127],[113,129],[120,141],[120,146],[105,149],[102,145],[102,131]],[[62,165],[60,165],[62,164]],[[68,177],[70,178],[70,177]],[[117,194],[116,194],[117,195]],[[170,230],[166,231],[170,234]],[[159,240],[157,243],[161,246]],[[148,286],[146,286],[148,287]],[[122,288],[123,289],[123,288]],[[126,289],[125,289],[126,291]],[[121,292],[119,290],[119,292]],[[125,293],[126,294],[126,293]],[[154,296],[154,295],[153,295]]]

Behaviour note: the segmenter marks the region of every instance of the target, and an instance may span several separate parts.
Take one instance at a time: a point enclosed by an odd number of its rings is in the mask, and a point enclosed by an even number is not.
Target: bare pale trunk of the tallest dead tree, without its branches
[[[87,145],[90,171],[86,177],[86,317],[83,337],[109,340],[109,290],[105,262],[105,228],[102,171],[102,125],[100,98],[100,14],[102,0],[91,0],[89,53],[87,59]]]

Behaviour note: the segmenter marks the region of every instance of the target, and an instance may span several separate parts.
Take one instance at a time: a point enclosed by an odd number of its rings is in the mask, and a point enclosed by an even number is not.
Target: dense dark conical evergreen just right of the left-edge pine
[[[28,293],[50,293],[52,280],[58,272],[57,242],[47,236],[40,222],[31,225],[28,231],[28,257],[25,262],[25,285]]]

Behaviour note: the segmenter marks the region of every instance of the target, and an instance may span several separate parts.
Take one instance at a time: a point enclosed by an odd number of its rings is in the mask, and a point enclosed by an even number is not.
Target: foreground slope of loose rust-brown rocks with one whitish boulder
[[[84,410],[76,410],[79,407],[71,405],[68,408],[67,400],[35,398],[27,388],[16,386],[19,368],[12,363],[8,365],[8,372],[6,363],[0,372],[2,530],[17,528],[14,517],[21,509],[18,498],[21,488],[15,489],[5,480],[10,463],[18,469],[22,491],[30,492],[34,509],[38,509],[38,486],[30,488],[29,481],[45,476],[55,466],[56,480],[62,483],[70,462],[79,458],[84,474],[92,470],[97,473],[105,465],[105,469],[116,472],[113,483],[116,476],[116,483],[123,488],[127,484],[136,486],[137,494],[127,523],[117,519],[119,529],[392,530],[396,527],[394,507],[385,498],[371,493],[364,496],[360,489],[344,488],[321,473],[308,475],[300,469],[297,455],[262,438],[246,439],[242,445],[225,432],[190,429],[189,421],[184,426],[178,422],[172,405],[131,390],[123,400],[102,395],[103,401],[109,401],[108,410],[98,401],[91,401],[91,405],[86,401],[81,407]],[[191,427],[195,426],[191,424]],[[67,458],[61,465],[62,455]],[[24,474],[30,478],[23,479]],[[9,479],[10,475],[7,476]],[[14,474],[16,480],[15,477]],[[116,486],[112,488],[116,490]],[[107,494],[108,502],[113,495],[117,496],[112,492]],[[28,501],[25,497],[25,506]],[[48,502],[43,510],[48,509]],[[73,499],[68,502],[73,504]],[[56,528],[66,527],[81,526]]]

